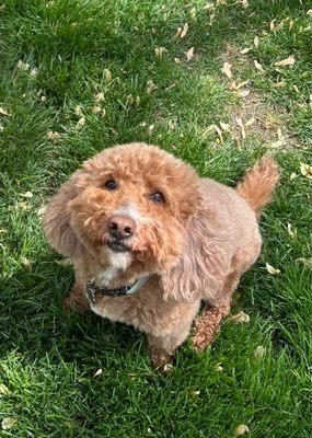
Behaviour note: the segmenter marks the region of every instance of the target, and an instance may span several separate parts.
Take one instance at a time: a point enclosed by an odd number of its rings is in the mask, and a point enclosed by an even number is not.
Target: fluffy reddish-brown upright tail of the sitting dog
[[[245,173],[236,191],[259,218],[262,209],[270,201],[278,182],[278,165],[273,158],[265,155]]]

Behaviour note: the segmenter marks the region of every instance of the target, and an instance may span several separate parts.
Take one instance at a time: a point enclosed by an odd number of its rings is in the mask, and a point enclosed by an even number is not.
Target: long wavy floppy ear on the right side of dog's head
[[[221,290],[228,267],[227,254],[218,245],[216,233],[209,228],[204,211],[190,220],[185,233],[183,254],[162,274],[165,299],[211,301]]]

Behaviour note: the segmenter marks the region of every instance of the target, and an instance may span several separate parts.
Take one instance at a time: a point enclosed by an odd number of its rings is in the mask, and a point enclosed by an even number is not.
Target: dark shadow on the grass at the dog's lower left
[[[0,301],[0,358],[15,351],[27,357],[88,362],[91,367],[147,361],[145,336],[132,327],[112,323],[90,312],[62,309],[73,283],[71,266],[56,256],[22,266],[4,279]]]

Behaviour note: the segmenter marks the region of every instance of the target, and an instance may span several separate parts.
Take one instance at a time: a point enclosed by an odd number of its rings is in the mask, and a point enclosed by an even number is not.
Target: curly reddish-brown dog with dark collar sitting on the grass
[[[50,244],[73,261],[66,306],[147,333],[155,366],[187,337],[204,349],[256,261],[257,218],[278,182],[264,158],[233,189],[154,146],[130,143],[85,161],[53,197]]]

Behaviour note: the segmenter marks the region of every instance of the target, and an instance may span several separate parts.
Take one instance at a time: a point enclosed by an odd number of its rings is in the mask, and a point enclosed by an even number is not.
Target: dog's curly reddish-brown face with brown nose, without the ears
[[[69,227],[99,257],[119,254],[163,268],[181,255],[200,205],[199,177],[189,165],[157,147],[124,145],[88,160],[70,182]]]

